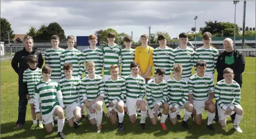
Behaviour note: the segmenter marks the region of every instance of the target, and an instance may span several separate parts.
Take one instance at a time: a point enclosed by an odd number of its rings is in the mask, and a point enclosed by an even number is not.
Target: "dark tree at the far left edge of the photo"
[[[8,32],[10,40],[12,40],[15,34],[13,34],[11,23],[6,18],[1,18],[1,42],[8,42]]]

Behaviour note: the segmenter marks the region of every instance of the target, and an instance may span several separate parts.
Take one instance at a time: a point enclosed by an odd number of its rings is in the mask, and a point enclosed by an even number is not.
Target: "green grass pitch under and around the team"
[[[193,69],[194,71],[194,69]],[[215,81],[217,74],[215,73]],[[23,129],[15,129],[15,123],[18,118],[18,75],[11,67],[11,61],[1,61],[1,138],[58,138],[57,126],[54,126],[54,132],[46,133],[45,129],[30,130],[33,124],[30,107],[27,107],[26,124]],[[211,132],[206,129],[206,113],[203,113],[203,124],[196,126],[193,120],[188,121],[191,125],[190,130],[181,127],[181,121],[177,125],[172,125],[166,120],[167,130],[162,130],[159,126],[150,124],[147,117],[146,124],[148,130],[140,128],[140,117],[136,124],[129,122],[129,117],[124,118],[124,131],[119,132],[117,125],[111,125],[108,118],[102,119],[102,133],[95,133],[96,127],[91,126],[89,121],[83,121],[78,129],[74,129],[65,123],[63,132],[67,138],[255,138],[255,58],[246,57],[246,67],[243,73],[243,87],[241,105],[244,109],[244,116],[241,121],[242,134],[233,130],[231,119],[227,119],[227,127],[221,128],[219,124],[213,124],[217,129]],[[107,109],[105,109],[107,111]],[[182,111],[183,113],[183,111]]]

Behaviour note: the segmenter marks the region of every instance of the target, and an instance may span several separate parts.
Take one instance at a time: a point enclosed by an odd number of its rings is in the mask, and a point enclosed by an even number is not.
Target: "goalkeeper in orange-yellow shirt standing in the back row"
[[[147,82],[152,78],[153,47],[148,46],[148,35],[140,36],[141,46],[135,48],[135,59],[140,66],[139,75]]]

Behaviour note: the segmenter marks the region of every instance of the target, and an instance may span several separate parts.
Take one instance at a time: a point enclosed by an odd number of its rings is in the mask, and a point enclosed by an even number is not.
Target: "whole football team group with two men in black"
[[[102,117],[108,117],[108,123],[118,132],[137,122],[145,132],[149,126],[166,130],[166,122],[172,126],[181,123],[190,130],[189,120],[195,130],[204,126],[215,132],[216,126],[225,127],[230,120],[233,130],[242,133],[239,124],[243,122],[240,101],[245,58],[233,47],[231,38],[223,40],[224,50],[218,52],[211,46],[210,32],[204,32],[203,46],[196,50],[187,46],[186,32],[179,34],[179,46],[174,49],[166,46],[162,34],[157,36],[159,47],[155,49],[148,45],[147,34],[140,36],[141,46],[135,49],[132,37],[125,36],[122,47],[115,43],[115,36],[108,32],[107,45],[98,48],[98,37],[92,34],[85,40],[90,47],[79,51],[74,47],[74,36],[66,38],[68,47],[63,49],[59,36],[53,35],[49,40],[52,48],[44,56],[33,47],[33,38],[26,36],[25,47],[11,62],[19,76],[16,127],[25,125],[29,103],[33,118],[29,130],[44,128],[57,132],[62,139],[66,138],[62,131],[65,124],[68,126],[64,128],[83,128],[83,119],[95,133],[104,133],[108,126],[102,124],[106,120]],[[215,72],[218,76],[214,83]],[[130,123],[124,123],[125,118]]]

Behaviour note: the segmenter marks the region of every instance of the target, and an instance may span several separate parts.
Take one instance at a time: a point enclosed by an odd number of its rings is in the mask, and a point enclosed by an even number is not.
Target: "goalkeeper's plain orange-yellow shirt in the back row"
[[[151,46],[147,46],[146,48],[138,46],[135,48],[134,62],[139,63],[142,75],[147,72],[149,66],[153,67],[153,50],[154,48]],[[150,76],[152,76],[152,69],[147,77]]]

